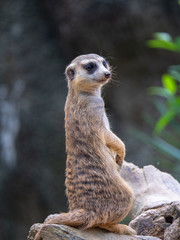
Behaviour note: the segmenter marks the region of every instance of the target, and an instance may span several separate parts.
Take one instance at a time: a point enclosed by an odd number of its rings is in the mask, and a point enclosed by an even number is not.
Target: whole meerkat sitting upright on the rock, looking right
[[[52,215],[44,224],[136,234],[119,224],[132,207],[133,194],[119,174],[125,145],[111,131],[101,97],[102,87],[111,79],[110,66],[97,54],[80,55],[67,66],[65,75],[69,89],[65,103],[69,212]],[[35,237],[39,239],[41,229]]]

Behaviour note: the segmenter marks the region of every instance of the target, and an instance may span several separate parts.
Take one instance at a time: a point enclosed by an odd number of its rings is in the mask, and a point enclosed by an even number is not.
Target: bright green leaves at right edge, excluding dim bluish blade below
[[[180,37],[176,37],[174,42],[168,33],[155,33],[154,37],[148,41],[148,46],[180,52]],[[168,73],[162,75],[162,87],[151,87],[149,93],[164,98],[166,111],[154,129],[155,134],[160,134],[173,119],[180,117],[180,65],[169,67]]]

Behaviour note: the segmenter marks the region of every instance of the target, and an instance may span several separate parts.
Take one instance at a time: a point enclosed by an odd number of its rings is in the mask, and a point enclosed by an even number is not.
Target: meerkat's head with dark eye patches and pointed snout
[[[97,54],[80,55],[65,71],[69,87],[91,92],[101,88],[111,79],[108,62]]]

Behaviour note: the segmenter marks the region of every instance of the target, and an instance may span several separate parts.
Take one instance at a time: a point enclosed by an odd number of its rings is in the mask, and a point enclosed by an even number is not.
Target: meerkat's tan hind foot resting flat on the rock
[[[136,235],[136,231],[125,224],[102,225],[100,228],[106,229],[110,232],[119,233],[121,235]]]

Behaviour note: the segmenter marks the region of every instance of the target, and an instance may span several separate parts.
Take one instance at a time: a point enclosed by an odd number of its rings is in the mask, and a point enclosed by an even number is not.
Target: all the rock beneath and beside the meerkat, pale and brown
[[[125,236],[99,228],[81,230],[64,225],[45,224],[43,240],[179,240],[180,184],[170,174],[153,166],[139,168],[124,162],[121,176],[134,191],[130,226],[138,236]],[[51,215],[48,217],[50,218]],[[28,240],[33,240],[41,224],[31,227]]]

